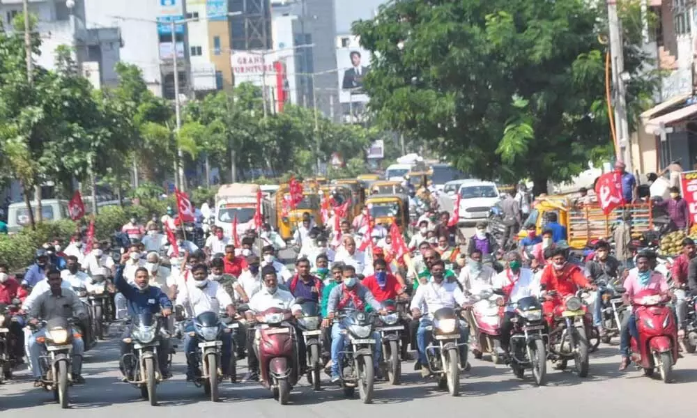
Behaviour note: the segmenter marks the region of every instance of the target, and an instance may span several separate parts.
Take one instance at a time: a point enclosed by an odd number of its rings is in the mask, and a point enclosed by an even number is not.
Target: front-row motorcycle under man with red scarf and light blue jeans
[[[345,314],[340,314],[336,318],[346,321],[346,335],[348,335],[348,341],[339,353],[342,357],[339,375],[342,378],[344,395],[353,397],[355,388],[358,387],[360,400],[363,403],[371,403],[375,382],[373,353],[377,342],[373,338],[374,315],[346,309]]]

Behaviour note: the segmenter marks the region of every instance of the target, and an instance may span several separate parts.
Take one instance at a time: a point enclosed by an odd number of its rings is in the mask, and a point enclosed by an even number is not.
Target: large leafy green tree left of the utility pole
[[[604,108],[604,2],[404,0],[354,31],[373,52],[365,86],[379,121],[466,173],[536,192],[611,152]],[[625,48],[628,102],[655,77]]]

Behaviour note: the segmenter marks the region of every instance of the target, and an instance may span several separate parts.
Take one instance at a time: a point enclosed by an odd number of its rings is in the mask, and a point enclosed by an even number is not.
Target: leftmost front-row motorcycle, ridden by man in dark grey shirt
[[[72,369],[72,339],[80,334],[73,334],[75,320],[72,318],[53,318],[41,321],[39,325],[31,325],[33,332],[45,327],[44,336],[36,339],[44,344],[43,353],[39,357],[41,368],[40,384],[46,391],[53,391],[54,400],[61,408],[68,408],[68,387],[70,386],[70,370]]]

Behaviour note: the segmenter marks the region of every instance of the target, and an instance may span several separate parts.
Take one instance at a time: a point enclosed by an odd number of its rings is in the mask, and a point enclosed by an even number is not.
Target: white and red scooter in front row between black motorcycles
[[[499,320],[499,295],[494,295],[489,290],[482,291],[479,295],[473,295],[475,304],[472,307],[472,318],[477,327],[478,348],[472,350],[475,359],[481,359],[484,353],[489,353],[491,362],[498,364],[501,359],[501,328]]]

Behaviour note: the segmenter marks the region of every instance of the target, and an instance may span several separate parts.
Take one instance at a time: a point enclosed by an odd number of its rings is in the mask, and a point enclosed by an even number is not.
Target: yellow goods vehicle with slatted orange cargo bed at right
[[[652,203],[636,203],[616,208],[605,215],[598,203],[578,206],[568,196],[544,196],[533,203],[528,219],[518,233],[519,240],[525,238],[528,225],[537,227],[537,235],[542,235],[547,223],[547,216],[556,213],[557,222],[567,229],[567,242],[574,249],[585,249],[592,240],[608,238],[612,235],[613,225],[621,219],[627,210],[631,217],[631,235],[641,238],[646,231],[653,230]]]

